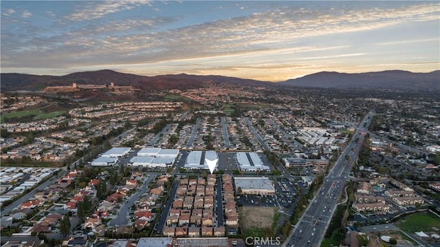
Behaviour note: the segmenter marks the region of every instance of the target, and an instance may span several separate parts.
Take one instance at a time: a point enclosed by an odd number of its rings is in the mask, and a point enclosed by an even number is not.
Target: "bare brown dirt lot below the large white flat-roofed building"
[[[252,226],[260,228],[270,228],[274,220],[277,208],[261,206],[242,206],[239,207],[241,227],[248,229]]]

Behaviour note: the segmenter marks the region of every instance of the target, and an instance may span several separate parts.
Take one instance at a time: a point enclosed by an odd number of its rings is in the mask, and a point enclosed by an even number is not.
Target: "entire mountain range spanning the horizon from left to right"
[[[131,85],[144,90],[190,89],[206,83],[226,83],[242,86],[294,86],[324,88],[389,88],[407,90],[439,90],[440,70],[429,73],[412,73],[403,70],[347,74],[318,72],[278,83],[227,76],[197,76],[167,74],[139,76],[104,69],[95,72],[76,72],[65,76],[36,76],[31,74],[1,73],[1,91],[38,91],[49,86],[67,86],[72,83],[95,85]]]

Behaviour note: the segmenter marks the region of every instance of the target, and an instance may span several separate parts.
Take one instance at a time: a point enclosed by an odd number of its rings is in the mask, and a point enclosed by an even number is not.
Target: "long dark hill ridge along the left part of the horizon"
[[[72,83],[94,85],[109,85],[110,83],[115,83],[115,85],[131,85],[144,90],[164,90],[197,88],[201,87],[203,83],[264,86],[269,82],[226,76],[195,76],[188,74],[139,76],[115,72],[110,69],[95,72],[76,72],[65,76],[35,76],[17,73],[1,74],[1,91],[38,91],[48,86],[67,86],[72,85]]]

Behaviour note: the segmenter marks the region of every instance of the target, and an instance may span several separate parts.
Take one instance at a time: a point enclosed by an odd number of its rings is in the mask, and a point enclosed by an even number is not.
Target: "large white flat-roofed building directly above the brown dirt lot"
[[[234,178],[235,189],[248,195],[275,195],[274,181],[269,178]]]

